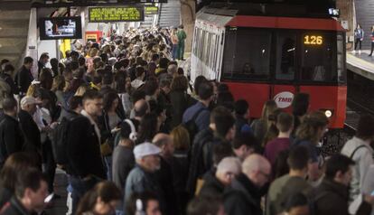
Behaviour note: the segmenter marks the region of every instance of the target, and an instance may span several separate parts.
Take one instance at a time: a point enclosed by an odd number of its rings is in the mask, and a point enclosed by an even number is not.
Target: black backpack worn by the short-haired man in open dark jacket
[[[53,130],[51,146],[56,164],[68,164],[68,132],[71,122],[77,117],[62,117]]]

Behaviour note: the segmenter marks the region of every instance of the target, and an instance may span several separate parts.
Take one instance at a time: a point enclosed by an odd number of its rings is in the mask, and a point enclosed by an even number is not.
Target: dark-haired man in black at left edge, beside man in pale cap
[[[4,115],[0,119],[0,169],[10,154],[22,151],[23,136],[16,118],[17,101],[14,98],[3,100]]]

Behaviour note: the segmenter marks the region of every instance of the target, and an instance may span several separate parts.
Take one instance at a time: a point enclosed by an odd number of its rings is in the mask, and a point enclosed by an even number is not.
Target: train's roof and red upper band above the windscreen
[[[345,31],[338,21],[328,15],[297,16],[296,13],[293,15],[276,15],[274,13],[261,12],[261,10],[265,10],[266,12],[266,8],[271,8],[271,11],[276,11],[275,5],[276,4],[267,7],[265,6],[264,9],[264,5],[261,6],[258,4],[214,3],[203,7],[197,14],[196,20],[201,23],[210,23],[216,25],[217,27],[234,26],[339,32]],[[302,10],[304,7],[302,5],[294,5],[293,7],[289,8],[289,11],[297,11],[297,8]]]

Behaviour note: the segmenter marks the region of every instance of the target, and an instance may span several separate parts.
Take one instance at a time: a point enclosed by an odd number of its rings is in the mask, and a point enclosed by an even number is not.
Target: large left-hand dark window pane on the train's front
[[[238,29],[228,33],[227,42],[223,68],[225,78],[268,79],[271,33]]]

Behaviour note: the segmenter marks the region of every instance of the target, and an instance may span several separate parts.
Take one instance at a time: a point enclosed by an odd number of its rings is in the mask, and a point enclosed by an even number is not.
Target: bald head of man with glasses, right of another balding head
[[[264,186],[271,176],[271,165],[267,159],[260,154],[250,154],[246,160],[244,160],[241,168],[248,179],[258,187]]]

